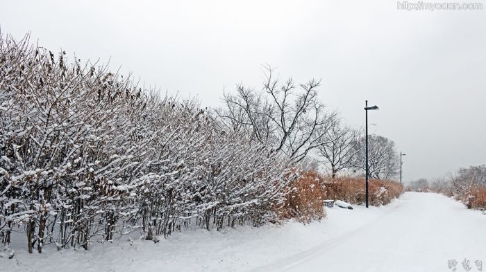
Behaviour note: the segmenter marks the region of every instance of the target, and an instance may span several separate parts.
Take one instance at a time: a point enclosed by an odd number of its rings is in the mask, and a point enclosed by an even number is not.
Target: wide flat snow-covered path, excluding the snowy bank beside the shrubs
[[[486,266],[486,216],[439,194],[405,193],[370,224],[262,271],[457,271]],[[486,267],[483,267],[486,269]]]

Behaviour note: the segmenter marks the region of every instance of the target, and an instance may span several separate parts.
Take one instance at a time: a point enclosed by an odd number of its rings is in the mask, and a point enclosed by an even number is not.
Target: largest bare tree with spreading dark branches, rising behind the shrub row
[[[249,132],[258,143],[301,161],[335,125],[335,112],[317,99],[319,84],[312,79],[298,89],[292,78],[281,82],[265,66],[262,90],[237,86],[235,94],[225,93],[226,107],[217,114],[228,128]]]

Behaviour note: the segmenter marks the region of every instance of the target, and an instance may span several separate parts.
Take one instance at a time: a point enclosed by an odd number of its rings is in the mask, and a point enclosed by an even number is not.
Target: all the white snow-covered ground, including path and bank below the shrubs
[[[93,244],[90,251],[46,246],[0,258],[0,271],[456,271],[464,259],[486,269],[486,215],[440,194],[406,192],[387,206],[328,208],[308,225],[192,230],[154,244]],[[479,262],[478,262],[479,264]]]

